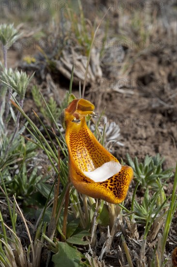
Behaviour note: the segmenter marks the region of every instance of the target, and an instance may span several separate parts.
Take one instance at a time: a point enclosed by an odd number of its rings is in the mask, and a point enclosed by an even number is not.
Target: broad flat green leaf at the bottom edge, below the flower
[[[53,255],[54,267],[81,267],[82,254],[68,243],[58,242],[59,251]]]

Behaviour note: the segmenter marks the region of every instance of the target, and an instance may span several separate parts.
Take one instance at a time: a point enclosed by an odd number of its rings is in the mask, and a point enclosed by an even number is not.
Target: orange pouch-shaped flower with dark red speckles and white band
[[[71,97],[73,100],[73,95]],[[69,152],[69,177],[80,193],[120,203],[127,195],[133,169],[121,166],[91,133],[86,118],[94,114],[93,110],[94,105],[88,100],[74,99],[62,113]]]

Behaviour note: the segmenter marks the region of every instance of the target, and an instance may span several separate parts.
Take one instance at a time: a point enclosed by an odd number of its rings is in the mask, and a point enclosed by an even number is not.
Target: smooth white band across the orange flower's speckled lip
[[[121,170],[120,163],[116,161],[109,161],[104,163],[101,167],[94,169],[93,171],[83,171],[84,174],[93,180],[94,182],[104,182],[117,174]]]

